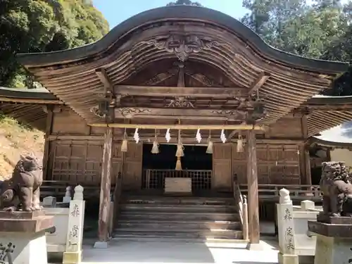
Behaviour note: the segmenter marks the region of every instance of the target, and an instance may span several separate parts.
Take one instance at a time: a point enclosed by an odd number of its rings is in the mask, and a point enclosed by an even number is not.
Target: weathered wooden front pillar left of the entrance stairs
[[[101,166],[101,186],[99,201],[99,242],[108,241],[108,218],[110,206],[111,171],[112,171],[113,128],[108,127],[105,132],[103,146],[103,163]]]

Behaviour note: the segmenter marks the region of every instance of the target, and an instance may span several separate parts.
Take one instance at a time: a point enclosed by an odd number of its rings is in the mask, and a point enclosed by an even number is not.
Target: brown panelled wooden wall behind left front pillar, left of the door
[[[54,111],[49,163],[46,180],[65,180],[70,182],[84,182],[87,185],[100,184],[101,162],[103,153],[104,127],[89,127],[76,113],[67,108]],[[114,130],[114,136],[120,136],[120,130]],[[65,136],[65,139],[59,139]],[[72,139],[70,139],[72,137]],[[122,171],[121,142],[113,142],[113,175],[111,184],[115,184],[115,177]]]

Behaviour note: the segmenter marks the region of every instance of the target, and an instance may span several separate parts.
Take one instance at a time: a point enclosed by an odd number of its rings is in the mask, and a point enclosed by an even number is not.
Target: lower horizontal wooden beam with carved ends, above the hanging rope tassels
[[[254,113],[256,114],[256,113]],[[259,115],[258,115],[259,116]],[[262,114],[262,117],[265,113]],[[147,108],[119,107],[115,108],[115,118],[154,118],[154,119],[191,119],[197,120],[253,120],[248,111],[237,111],[220,108]]]

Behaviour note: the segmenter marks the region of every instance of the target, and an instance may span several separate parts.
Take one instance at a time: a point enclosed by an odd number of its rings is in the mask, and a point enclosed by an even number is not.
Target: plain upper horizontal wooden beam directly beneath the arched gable
[[[141,96],[197,96],[197,97],[246,97],[246,87],[158,87],[115,85],[114,94],[128,94]]]

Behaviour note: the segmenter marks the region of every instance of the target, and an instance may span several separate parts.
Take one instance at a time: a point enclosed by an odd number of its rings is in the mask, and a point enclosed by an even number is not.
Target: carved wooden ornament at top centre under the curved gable
[[[153,44],[157,49],[164,49],[174,53],[180,61],[187,61],[189,54],[209,50],[213,46],[220,46],[215,40],[197,37],[196,35],[171,34],[167,39],[151,39],[148,44]]]

